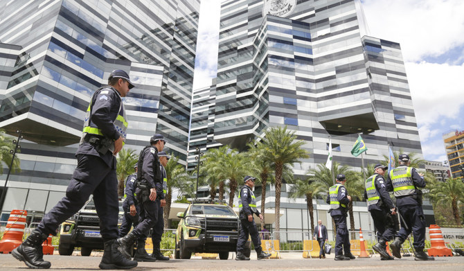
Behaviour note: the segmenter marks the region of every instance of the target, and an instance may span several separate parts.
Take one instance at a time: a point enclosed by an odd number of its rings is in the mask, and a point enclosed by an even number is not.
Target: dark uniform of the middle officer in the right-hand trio
[[[385,244],[391,241],[396,232],[398,217],[391,215],[391,209],[395,208],[393,201],[390,198],[389,192],[386,191],[385,180],[382,175],[375,174],[372,176],[374,189],[380,199],[376,203],[368,203],[368,211],[371,213],[374,220],[375,229],[377,229],[377,241]],[[364,190],[364,198],[368,200],[368,193]]]

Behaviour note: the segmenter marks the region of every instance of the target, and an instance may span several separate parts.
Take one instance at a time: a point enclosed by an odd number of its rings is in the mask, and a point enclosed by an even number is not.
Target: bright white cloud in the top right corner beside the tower
[[[400,42],[404,60],[420,61],[464,44],[462,0],[364,0],[373,37]]]

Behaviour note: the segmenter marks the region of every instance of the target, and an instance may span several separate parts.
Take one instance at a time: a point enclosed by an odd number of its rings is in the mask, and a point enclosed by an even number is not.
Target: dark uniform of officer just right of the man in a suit
[[[344,177],[343,177],[344,179]],[[330,216],[334,219],[335,226],[337,227],[337,238],[335,239],[335,256],[343,255],[350,256],[350,236],[348,235],[348,227],[346,225],[346,216],[348,216],[348,191],[346,191],[345,186],[341,183],[337,183],[335,185],[339,185],[339,190],[337,193],[337,200],[339,202],[339,207],[337,209],[330,209]],[[333,186],[332,186],[333,187]],[[330,204],[330,195],[328,195],[327,200],[325,200],[328,204]],[[341,204],[344,204],[346,207],[342,207]],[[331,204],[332,205],[332,204]]]

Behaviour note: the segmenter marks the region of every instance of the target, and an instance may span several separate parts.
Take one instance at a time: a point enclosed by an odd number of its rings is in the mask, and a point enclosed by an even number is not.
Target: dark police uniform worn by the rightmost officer
[[[397,168],[407,168],[407,166],[398,166]],[[416,188],[425,187],[424,178],[419,175],[416,168],[411,168],[411,178]],[[386,190],[393,191],[390,175],[386,179]],[[400,220],[401,229],[398,231],[396,237],[400,238],[401,243],[403,243],[412,231],[414,237],[413,246],[416,252],[422,251],[425,247],[425,216],[422,210],[422,195],[420,195],[420,193],[421,192],[418,192],[416,189],[416,192],[411,195],[395,197],[396,206],[403,218]]]

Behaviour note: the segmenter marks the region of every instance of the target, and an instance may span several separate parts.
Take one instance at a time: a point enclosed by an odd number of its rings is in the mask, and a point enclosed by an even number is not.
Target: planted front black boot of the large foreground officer
[[[98,265],[101,269],[130,269],[137,266],[136,261],[130,261],[118,250],[118,242],[115,239],[106,241],[102,261]]]

